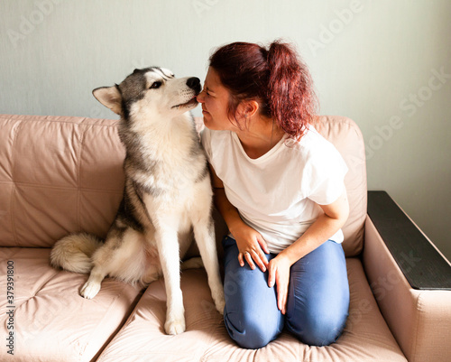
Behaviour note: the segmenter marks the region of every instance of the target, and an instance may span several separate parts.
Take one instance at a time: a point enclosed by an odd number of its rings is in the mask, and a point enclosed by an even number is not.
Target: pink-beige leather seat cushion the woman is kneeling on
[[[290,334],[265,348],[237,348],[215,310],[202,269],[184,271],[181,288],[187,331],[164,333],[166,293],[158,280],[144,292],[129,320],[108,345],[99,362],[170,361],[406,361],[373,298],[361,262],[347,259],[351,288],[350,316],[343,335],[328,347],[308,347]],[[258,308],[258,301],[256,301]],[[140,336],[140,338],[137,338]],[[147,359],[146,359],[147,358]]]

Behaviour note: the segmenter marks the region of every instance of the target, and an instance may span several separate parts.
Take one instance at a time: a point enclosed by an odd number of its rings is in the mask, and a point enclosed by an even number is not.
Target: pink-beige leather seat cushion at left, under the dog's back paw
[[[0,248],[4,296],[7,261],[14,268],[14,361],[94,360],[133,311],[141,291],[106,278],[96,298],[88,301],[78,293],[87,275],[53,269],[49,254],[48,248]],[[0,299],[2,336],[10,331],[5,310],[11,306],[6,302]]]

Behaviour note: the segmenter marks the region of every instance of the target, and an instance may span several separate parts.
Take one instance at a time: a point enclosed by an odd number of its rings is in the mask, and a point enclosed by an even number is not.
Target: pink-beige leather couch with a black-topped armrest
[[[367,209],[364,141],[345,117],[317,123],[349,166],[351,305],[336,343],[309,347],[284,332],[265,348],[238,348],[202,269],[181,276],[187,331],[178,336],[163,331],[161,280],[140,290],[106,278],[95,299],[80,297],[87,275],[53,269],[49,253],[69,232],[105,236],[124,182],[116,125],[0,116],[1,361],[451,361],[451,267],[386,193],[368,193]],[[217,215],[216,232],[226,232]]]

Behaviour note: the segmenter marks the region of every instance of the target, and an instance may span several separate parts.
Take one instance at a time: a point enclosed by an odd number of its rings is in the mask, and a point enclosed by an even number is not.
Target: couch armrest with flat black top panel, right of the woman
[[[368,192],[363,263],[409,361],[451,360],[451,265],[386,192]]]

